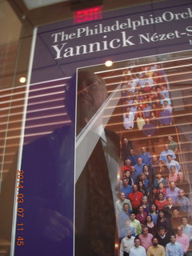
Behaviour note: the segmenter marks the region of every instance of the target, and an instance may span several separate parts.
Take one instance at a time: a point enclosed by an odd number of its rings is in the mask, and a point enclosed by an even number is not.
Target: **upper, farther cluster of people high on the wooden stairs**
[[[155,66],[159,68],[159,66]],[[137,123],[145,136],[154,135],[158,126],[172,124],[172,106],[166,76],[154,66],[126,74],[122,83],[123,126],[131,130]]]

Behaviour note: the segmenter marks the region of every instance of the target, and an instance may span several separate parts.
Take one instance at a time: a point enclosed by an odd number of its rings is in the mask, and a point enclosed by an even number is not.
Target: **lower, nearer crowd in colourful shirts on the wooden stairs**
[[[147,152],[145,146],[141,154],[134,154],[128,139],[123,139],[125,164],[121,170],[119,199],[115,203],[120,256],[132,255],[134,237],[139,238],[140,246],[146,249],[145,255],[151,255],[148,250],[154,241],[163,246],[163,254],[155,255],[173,255],[169,254],[171,239],[178,247],[181,245],[178,251],[182,253],[175,255],[186,254],[189,249],[192,241],[192,226],[188,223],[190,183],[176,160],[177,153],[178,145],[172,136],[168,137],[159,157]]]

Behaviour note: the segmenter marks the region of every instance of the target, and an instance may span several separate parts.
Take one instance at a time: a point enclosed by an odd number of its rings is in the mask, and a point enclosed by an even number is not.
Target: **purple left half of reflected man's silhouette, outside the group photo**
[[[71,256],[74,246],[74,104],[75,78],[66,92],[71,123],[25,145],[22,150],[24,194],[19,256]]]

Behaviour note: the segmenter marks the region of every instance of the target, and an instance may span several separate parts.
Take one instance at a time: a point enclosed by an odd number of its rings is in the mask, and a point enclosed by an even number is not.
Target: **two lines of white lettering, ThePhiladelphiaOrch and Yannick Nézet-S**
[[[91,54],[95,52],[101,52],[103,50],[114,50],[121,47],[130,47],[138,45],[144,45],[146,43],[154,42],[165,42],[173,39],[191,37],[192,36],[192,26],[186,26],[183,28],[184,22],[179,26],[179,20],[192,18],[192,10],[190,7],[186,8],[185,11],[180,13],[174,13],[173,11],[166,10],[161,16],[154,16],[153,14],[144,17],[144,15],[139,16],[137,20],[132,18],[126,18],[126,22],[120,22],[119,20],[114,21],[110,26],[103,26],[102,23],[90,26],[81,26],[76,28],[74,31],[70,31],[67,34],[66,31],[60,31],[58,33],[51,34],[53,38],[54,45],[51,46],[54,50],[54,59],[69,58],[78,55]],[[177,21],[177,26],[174,26],[174,21]],[[173,25],[173,30],[168,33],[140,33],[135,35],[130,34],[130,30],[138,30],[140,26],[149,26],[152,24],[158,24],[163,22],[171,22]],[[170,26],[170,27],[171,27]],[[158,25],[157,25],[158,27]],[[177,28],[175,30],[175,28]],[[181,28],[181,31],[178,30]],[[122,31],[121,31],[122,30]],[[113,37],[113,32],[115,33],[115,38]],[[118,32],[119,31],[119,32]],[[149,31],[151,31],[149,29]],[[161,28],[159,31],[163,31]],[[102,39],[98,38],[96,40],[93,36],[97,34],[103,34]],[[110,34],[108,37],[107,34]],[[111,36],[112,35],[112,36]],[[84,38],[92,38],[92,42],[85,43]],[[82,38],[82,44],[78,44],[78,40],[74,41],[74,45],[70,44],[71,40],[75,38]],[[191,40],[190,40],[191,41]]]

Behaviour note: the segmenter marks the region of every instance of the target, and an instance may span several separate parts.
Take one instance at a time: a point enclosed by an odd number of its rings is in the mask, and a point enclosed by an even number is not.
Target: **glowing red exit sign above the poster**
[[[74,24],[102,19],[102,6],[74,11]]]

